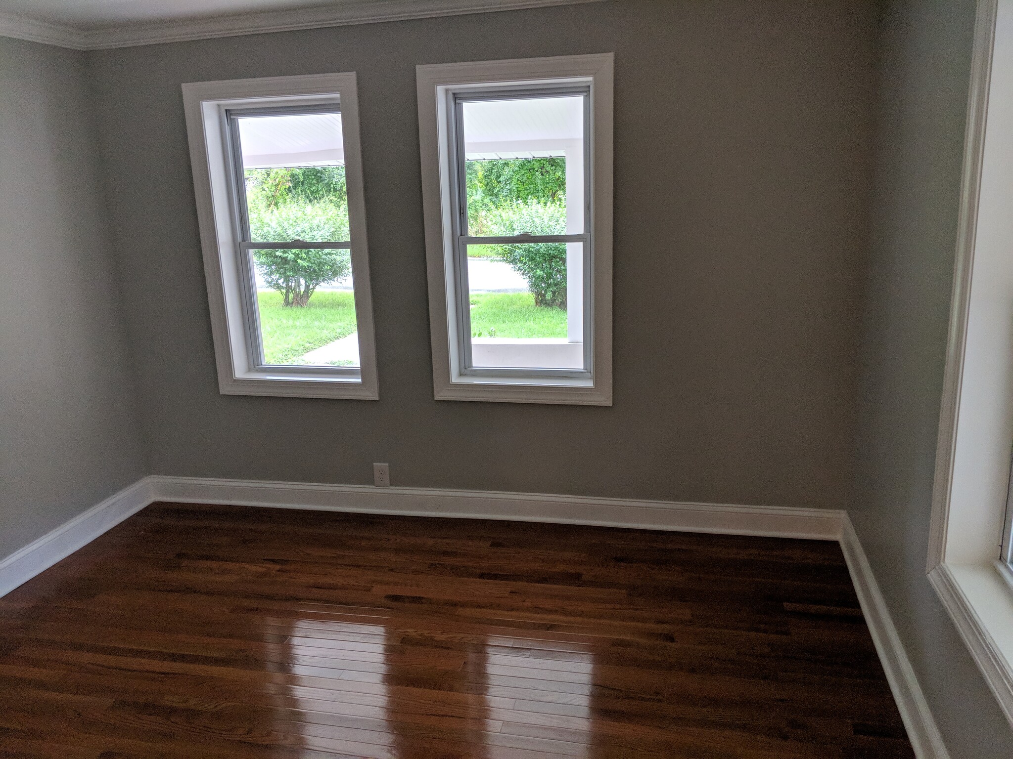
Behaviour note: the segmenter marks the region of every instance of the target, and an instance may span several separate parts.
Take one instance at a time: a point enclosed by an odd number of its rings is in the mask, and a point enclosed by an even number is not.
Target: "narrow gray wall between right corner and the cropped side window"
[[[953,759],[1013,733],[925,577],[973,0],[890,2],[851,516]]]

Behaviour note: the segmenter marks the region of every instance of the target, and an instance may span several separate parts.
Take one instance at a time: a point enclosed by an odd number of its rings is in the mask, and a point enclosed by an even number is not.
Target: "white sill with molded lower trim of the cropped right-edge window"
[[[1013,714],[1013,588],[992,564],[940,564],[929,573],[943,607],[1007,718]]]

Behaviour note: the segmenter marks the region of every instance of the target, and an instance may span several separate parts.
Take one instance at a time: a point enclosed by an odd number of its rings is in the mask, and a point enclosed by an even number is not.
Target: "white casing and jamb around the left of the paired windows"
[[[355,73],[198,82],[182,85],[182,91],[220,392],[238,396],[377,400],[376,341]],[[247,325],[240,306],[233,212],[228,199],[231,178],[224,149],[224,110],[257,104],[327,101],[339,102],[341,108],[360,371],[352,375],[346,371],[321,371],[319,367],[307,367],[305,371],[293,367],[279,373],[252,370],[246,347]],[[222,212],[217,217],[216,209]]]

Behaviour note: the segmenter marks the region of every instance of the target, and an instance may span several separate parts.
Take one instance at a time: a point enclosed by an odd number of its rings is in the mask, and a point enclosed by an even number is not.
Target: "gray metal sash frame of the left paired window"
[[[322,377],[354,378],[361,375],[360,366],[313,366],[297,364],[267,363],[263,354],[263,336],[260,329],[260,313],[256,298],[256,275],[252,262],[254,250],[349,250],[350,240],[341,241],[290,241],[285,243],[257,242],[251,240],[249,206],[246,197],[246,178],[243,169],[242,139],[239,120],[279,115],[305,115],[311,113],[341,113],[340,98],[315,104],[274,105],[266,107],[229,107],[222,111],[224,119],[225,153],[229,175],[228,195],[230,217],[235,240],[236,265],[240,272],[239,289],[243,315],[243,335],[246,343],[247,360],[251,371],[274,375],[318,375]],[[353,298],[356,296],[353,279]],[[360,364],[362,359],[360,357]]]

